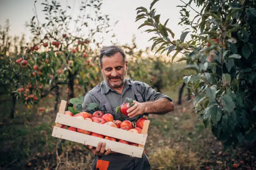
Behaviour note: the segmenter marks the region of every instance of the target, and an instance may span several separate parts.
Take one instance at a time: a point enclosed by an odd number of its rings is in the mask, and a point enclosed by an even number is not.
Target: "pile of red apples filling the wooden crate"
[[[133,123],[129,120],[124,120],[123,122],[120,120],[114,120],[113,116],[110,113],[106,113],[104,114],[102,111],[96,111],[93,114],[90,114],[88,112],[80,112],[77,113],[75,115],[72,114],[72,112],[67,111],[65,112],[65,115],[69,115],[69,116],[73,116],[73,117],[77,117],[79,119],[83,119],[83,120],[88,120],[91,122],[96,122],[96,123],[100,123],[102,125],[107,125],[107,126],[111,126],[113,128],[120,128],[123,130],[128,130],[130,132],[133,133],[141,133],[142,128],[143,128],[143,124],[144,121],[146,120],[146,118],[142,117],[140,119],[138,119],[136,121],[136,127],[133,127]],[[66,125],[61,125],[61,128],[65,128]],[[72,130],[75,132],[79,132],[79,133],[84,133],[87,135],[92,135],[98,138],[104,138],[104,139],[108,139],[108,140],[113,140],[115,142],[120,142],[120,143],[125,143],[128,145],[134,145],[134,146],[138,146],[138,144],[136,143],[130,143],[127,142],[125,140],[118,140],[109,136],[104,136],[98,133],[93,133],[93,132],[89,132],[87,130],[83,130],[83,129],[79,129],[79,128],[74,128],[74,127],[69,127],[67,128],[68,130]]]

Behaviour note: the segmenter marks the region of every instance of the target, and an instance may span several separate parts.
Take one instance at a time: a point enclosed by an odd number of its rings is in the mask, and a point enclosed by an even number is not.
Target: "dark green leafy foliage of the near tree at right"
[[[154,5],[153,1],[152,4]],[[182,1],[183,2],[183,1]],[[200,8],[191,18],[191,4]],[[187,62],[184,69],[195,70],[197,75],[187,75],[184,82],[195,95],[194,107],[205,126],[209,123],[212,133],[225,147],[256,139],[256,6],[250,0],[190,0],[180,5],[182,16],[179,24],[185,30],[177,40],[172,30],[159,21],[156,9],[138,7],[136,21],[139,26],[149,26],[146,32],[155,32],[151,50],[156,52],[175,50],[172,61],[181,52],[180,59]],[[194,9],[193,9],[194,10]],[[197,22],[195,20],[197,19]],[[191,40],[186,36],[191,32]]]

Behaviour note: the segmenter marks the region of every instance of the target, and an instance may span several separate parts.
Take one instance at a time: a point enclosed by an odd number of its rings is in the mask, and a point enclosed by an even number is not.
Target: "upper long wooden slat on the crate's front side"
[[[145,145],[147,139],[147,135],[129,132],[123,129],[113,128],[108,125],[102,125],[99,123],[90,122],[88,120],[82,120],[61,113],[57,113],[55,122],[79,129],[88,130],[90,132],[99,133],[104,136],[110,136],[117,139],[123,139],[132,143],[138,143],[141,145]]]

